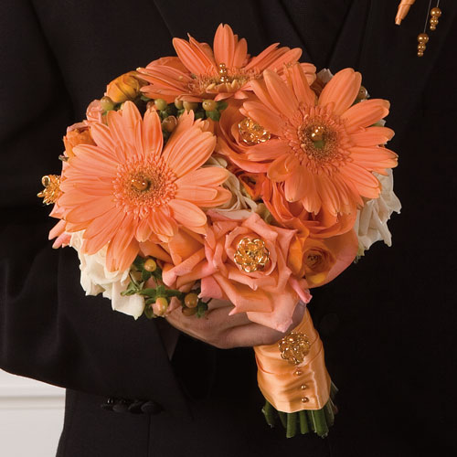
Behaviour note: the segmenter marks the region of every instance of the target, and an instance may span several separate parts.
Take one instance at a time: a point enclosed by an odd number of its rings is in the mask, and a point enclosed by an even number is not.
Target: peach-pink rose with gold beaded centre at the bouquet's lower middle
[[[258,214],[244,220],[211,211],[208,216],[212,225],[204,244],[165,266],[165,284],[181,288],[201,280],[202,297],[229,300],[232,314],[247,313],[252,322],[285,331],[296,304],[311,299],[307,283],[287,266],[295,230],[270,226]]]

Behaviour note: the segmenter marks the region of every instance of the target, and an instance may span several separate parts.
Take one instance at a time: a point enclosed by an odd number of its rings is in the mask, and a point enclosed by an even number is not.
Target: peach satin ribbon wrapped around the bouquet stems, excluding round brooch
[[[330,398],[331,380],[324,364],[321,338],[307,309],[302,323],[293,331],[302,332],[311,343],[308,355],[299,365],[292,365],[284,360],[277,343],[254,347],[259,388],[265,399],[278,411],[322,409]],[[297,370],[302,374],[294,374]],[[307,400],[303,402],[302,399]]]

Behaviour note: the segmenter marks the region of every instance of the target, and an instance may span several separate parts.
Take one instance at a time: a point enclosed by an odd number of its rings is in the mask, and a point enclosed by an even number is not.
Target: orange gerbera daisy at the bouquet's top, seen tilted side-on
[[[284,65],[296,62],[300,48],[278,48],[278,43],[250,58],[246,39],[238,38],[228,25],[220,24],[214,37],[213,49],[189,35],[189,41],[173,39],[177,58],[159,58],[145,69],[138,69],[150,85],[142,91],[153,99],[172,102],[179,97],[185,101],[203,99],[223,100],[228,97],[245,99],[250,81],[261,78],[264,69],[282,72]],[[315,79],[315,67],[302,64],[310,83]]]

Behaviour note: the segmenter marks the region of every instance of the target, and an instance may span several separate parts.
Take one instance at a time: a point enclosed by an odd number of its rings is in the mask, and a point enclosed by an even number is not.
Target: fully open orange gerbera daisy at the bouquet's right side
[[[388,114],[388,101],[354,104],[361,76],[353,69],[338,72],[318,99],[299,65],[285,76],[267,69],[264,80],[251,82],[260,101],[246,101],[242,112],[271,140],[249,149],[246,159],[268,163],[267,175],[284,183],[286,199],[310,213],[348,214],[364,205],[362,197],[377,198],[381,186],[372,172],[385,175],[397,165],[397,154],[380,146],[393,131],[372,126]]]

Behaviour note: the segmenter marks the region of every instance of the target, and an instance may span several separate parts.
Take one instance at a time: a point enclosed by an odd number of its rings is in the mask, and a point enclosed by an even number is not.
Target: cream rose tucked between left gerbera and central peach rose
[[[227,168],[227,161],[222,157],[211,156],[206,165]],[[239,178],[233,173],[228,172],[227,181],[222,185],[231,192],[231,199],[221,205],[213,208],[214,211],[223,214],[227,218],[249,218],[257,210],[257,203],[243,193],[243,187]]]

